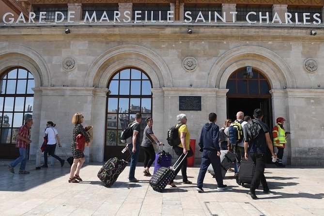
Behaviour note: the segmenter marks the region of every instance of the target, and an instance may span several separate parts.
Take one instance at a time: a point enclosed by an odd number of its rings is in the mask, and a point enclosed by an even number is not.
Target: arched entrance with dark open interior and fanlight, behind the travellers
[[[261,108],[263,111],[262,121],[270,130],[272,123],[272,103],[269,93],[270,85],[261,72],[251,68],[241,68],[233,72],[227,81],[227,118],[236,119],[236,113],[243,111],[253,119],[253,111]],[[272,137],[272,133],[270,133]],[[271,162],[271,154],[268,151],[268,162]]]

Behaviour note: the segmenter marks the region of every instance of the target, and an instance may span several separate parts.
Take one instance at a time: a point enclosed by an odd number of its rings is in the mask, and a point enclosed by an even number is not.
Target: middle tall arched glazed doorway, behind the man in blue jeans
[[[114,74],[108,82],[106,136],[104,160],[111,157],[126,159],[121,151],[125,144],[120,141],[122,130],[142,114],[140,139],[146,126],[145,119],[152,117],[152,81],[138,68],[125,68]],[[139,155],[139,160],[143,155]]]

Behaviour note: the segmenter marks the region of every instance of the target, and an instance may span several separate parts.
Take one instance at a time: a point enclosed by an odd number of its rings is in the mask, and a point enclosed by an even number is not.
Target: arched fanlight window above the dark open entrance
[[[270,85],[262,73],[247,68],[241,68],[231,74],[226,88],[229,89],[228,96],[268,97]]]

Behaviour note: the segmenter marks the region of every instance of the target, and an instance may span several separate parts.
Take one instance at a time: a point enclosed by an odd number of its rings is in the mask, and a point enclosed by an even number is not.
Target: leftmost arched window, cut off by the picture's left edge
[[[26,69],[13,68],[0,76],[0,142],[2,158],[12,158],[18,128],[32,117],[34,77]],[[5,144],[5,145],[2,145]]]

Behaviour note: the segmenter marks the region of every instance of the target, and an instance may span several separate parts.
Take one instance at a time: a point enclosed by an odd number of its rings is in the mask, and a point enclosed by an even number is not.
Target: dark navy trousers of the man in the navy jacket
[[[217,185],[223,186],[222,170],[220,167],[220,157],[217,156],[217,152],[203,150],[201,156],[200,170],[197,179],[197,187],[202,187],[203,179],[205,178],[205,174],[210,164],[212,164],[213,166]]]

